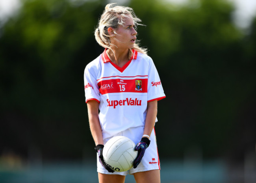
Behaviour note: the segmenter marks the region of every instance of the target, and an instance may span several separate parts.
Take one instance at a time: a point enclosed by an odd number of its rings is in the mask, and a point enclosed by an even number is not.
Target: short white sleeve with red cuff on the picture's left
[[[98,89],[96,73],[93,67],[87,65],[84,70],[84,91],[85,91],[85,102],[89,100],[96,100],[100,103],[100,91]]]

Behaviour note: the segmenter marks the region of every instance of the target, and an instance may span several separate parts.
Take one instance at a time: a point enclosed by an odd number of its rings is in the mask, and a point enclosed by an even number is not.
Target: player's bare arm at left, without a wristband
[[[89,125],[91,129],[91,134],[93,136],[93,140],[95,145],[102,144],[103,145],[103,136],[102,129],[100,127],[100,120],[98,117],[98,109],[99,103],[95,100],[89,100],[87,102],[88,108],[88,117],[89,117]]]

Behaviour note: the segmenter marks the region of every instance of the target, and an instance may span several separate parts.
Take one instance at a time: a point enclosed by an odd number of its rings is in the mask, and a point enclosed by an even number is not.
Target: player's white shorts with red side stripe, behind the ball
[[[138,142],[141,141],[143,131],[144,131],[144,127],[130,128],[116,134],[115,136],[126,136],[130,138],[132,141],[134,141],[135,144],[137,144]],[[104,139],[103,140],[104,144],[109,139],[110,138]],[[160,170],[160,161],[159,161],[158,149],[156,145],[155,129],[152,130],[152,133],[150,135],[150,145],[146,149],[145,154],[141,160],[141,163],[139,163],[136,169],[132,167],[130,170],[125,172],[110,173],[101,165],[97,155],[97,172],[102,174],[118,174],[118,175],[126,176],[127,174],[134,174],[136,172],[145,172],[148,170]]]

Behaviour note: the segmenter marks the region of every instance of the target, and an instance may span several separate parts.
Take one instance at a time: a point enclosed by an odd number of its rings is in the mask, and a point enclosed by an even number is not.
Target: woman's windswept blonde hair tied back
[[[113,51],[113,49],[111,49],[111,45],[116,45],[111,44],[110,42],[110,37],[113,36],[108,34],[109,27],[112,27],[115,30],[118,27],[118,25],[124,25],[124,20],[125,18],[128,18],[129,15],[132,16],[135,26],[142,25],[139,24],[141,20],[135,15],[132,8],[114,5],[115,3],[110,3],[106,5],[105,10],[103,11],[98,22],[98,26],[96,27],[94,32],[95,39],[99,43],[99,45],[101,45],[104,48],[108,48],[111,51]],[[115,31],[114,33],[117,34]],[[132,49],[135,49],[140,53],[147,54],[147,49],[139,47],[137,40],[135,40],[135,44]],[[129,49],[129,58],[133,55],[132,49]]]

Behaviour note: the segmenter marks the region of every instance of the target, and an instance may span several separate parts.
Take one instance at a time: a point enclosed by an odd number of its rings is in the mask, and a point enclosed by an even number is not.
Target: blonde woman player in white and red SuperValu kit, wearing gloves
[[[132,8],[106,5],[95,29],[96,41],[105,50],[85,67],[85,100],[100,183],[124,183],[127,174],[137,183],[160,183],[154,125],[157,101],[165,94],[147,50],[137,44],[139,22]],[[113,136],[137,144],[138,156],[126,172],[114,172],[103,160],[104,144]]]

